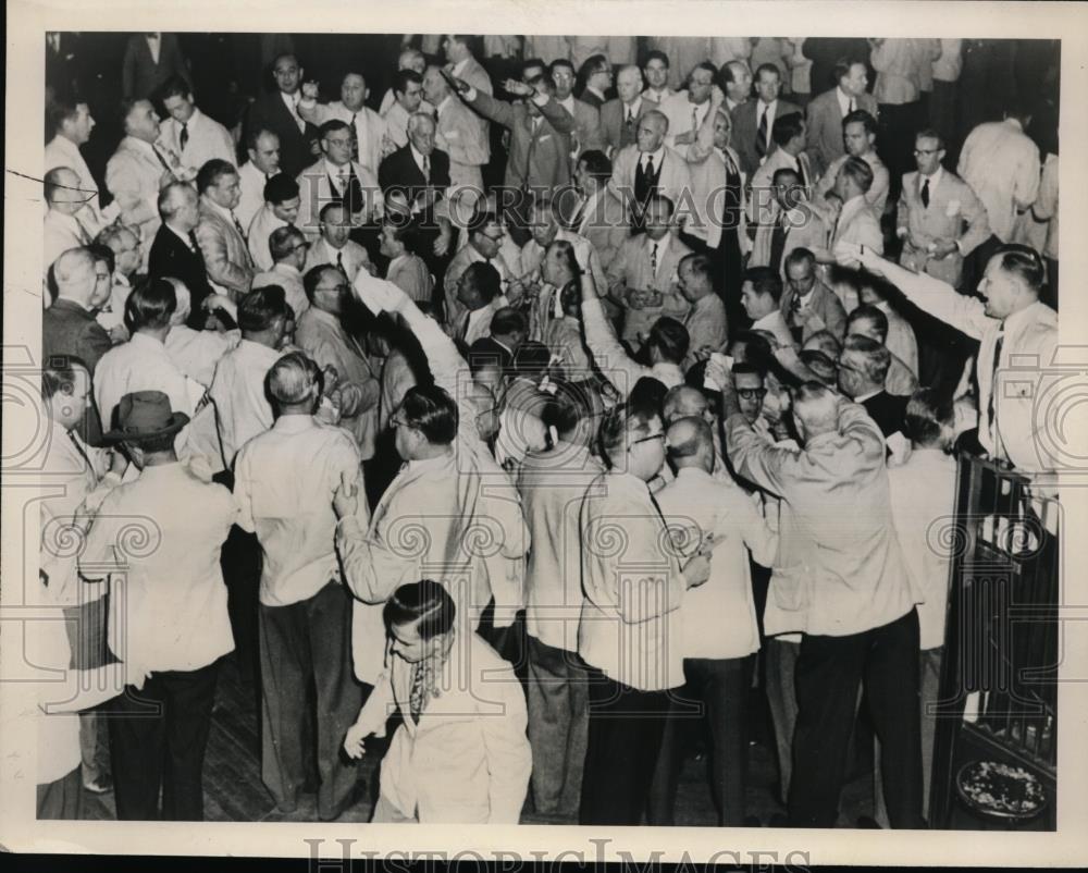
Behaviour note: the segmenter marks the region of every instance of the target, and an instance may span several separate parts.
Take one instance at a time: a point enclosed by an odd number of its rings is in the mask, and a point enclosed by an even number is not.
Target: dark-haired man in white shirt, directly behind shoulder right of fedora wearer
[[[238,305],[242,341],[215,365],[208,390],[215,402],[223,460],[234,467],[238,450],[272,427],[264,379],[282,356],[288,311],[283,288],[254,288]]]

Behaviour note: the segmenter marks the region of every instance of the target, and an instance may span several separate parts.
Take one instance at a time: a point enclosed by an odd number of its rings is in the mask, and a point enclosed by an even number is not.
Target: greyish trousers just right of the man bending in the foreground
[[[582,791],[589,730],[585,664],[533,636],[529,643],[529,745],[536,812],[572,814]]]

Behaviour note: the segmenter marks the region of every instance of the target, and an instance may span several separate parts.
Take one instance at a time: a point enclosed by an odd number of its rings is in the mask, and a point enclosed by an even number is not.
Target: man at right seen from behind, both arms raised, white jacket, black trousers
[[[892,827],[922,825],[918,615],[923,592],[906,571],[891,521],[885,440],[865,409],[805,382],[793,393],[800,452],[761,438],[732,379],[722,392],[726,448],[735,471],[781,497],[781,550],[767,598],[768,635],[801,631],[789,824],[831,827],[845,784],[864,680],[877,736],[893,762],[886,799]],[[843,524],[850,519],[850,524]],[[788,531],[788,534],[787,534]],[[790,567],[804,567],[801,574]]]

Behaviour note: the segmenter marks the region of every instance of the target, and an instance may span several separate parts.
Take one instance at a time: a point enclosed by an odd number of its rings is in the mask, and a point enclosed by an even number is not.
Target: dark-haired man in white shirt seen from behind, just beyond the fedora
[[[170,317],[177,308],[174,286],[164,279],[137,285],[128,297],[125,313],[132,339],[107,352],[95,368],[95,401],[109,429],[118,404],[135,391],[157,391],[170,398],[170,407],[188,418],[205,393],[203,385],[188,379],[166,353]],[[177,448],[185,446],[187,431],[176,438]]]

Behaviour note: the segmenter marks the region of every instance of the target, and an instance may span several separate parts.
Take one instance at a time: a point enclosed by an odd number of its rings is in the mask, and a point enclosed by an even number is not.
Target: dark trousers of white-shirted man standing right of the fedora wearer
[[[355,789],[357,771],[341,745],[363,700],[351,675],[351,597],[330,581],[289,606],[260,604],[259,618],[261,779],[280,809],[293,811],[316,751],[318,816],[335,819]],[[317,750],[304,741],[314,718]]]

